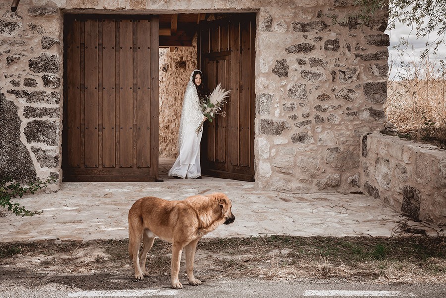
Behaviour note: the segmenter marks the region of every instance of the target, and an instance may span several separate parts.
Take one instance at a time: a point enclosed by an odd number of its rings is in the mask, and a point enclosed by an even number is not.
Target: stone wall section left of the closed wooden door
[[[0,3],[0,176],[59,182],[62,16],[56,7]],[[53,185],[57,188],[57,185]]]

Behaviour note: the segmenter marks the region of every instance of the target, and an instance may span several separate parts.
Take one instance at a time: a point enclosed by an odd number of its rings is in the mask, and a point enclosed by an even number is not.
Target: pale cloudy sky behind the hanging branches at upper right
[[[391,72],[389,74],[389,79],[394,79],[396,74],[397,74],[397,70],[398,70],[398,63],[400,61],[400,58],[398,57],[398,54],[400,53],[400,51],[398,51],[397,49],[394,49],[393,46],[397,45],[400,41],[400,38],[409,38],[409,44],[411,44],[414,48],[414,52],[409,49],[405,51],[404,54],[404,60],[406,62],[410,61],[410,60],[420,60],[420,55],[421,52],[426,48],[426,41],[428,40],[427,38],[419,38],[417,39],[416,37],[416,30],[415,28],[411,28],[411,27],[407,27],[405,24],[403,23],[396,23],[396,27],[395,29],[392,30],[386,30],[385,31],[386,34],[389,35],[390,37],[390,46],[389,46],[389,69],[390,69],[390,64],[391,63],[395,63],[391,68]],[[436,33],[432,33],[431,34],[431,38],[429,40],[434,40],[436,37]],[[433,50],[433,48],[432,48]],[[430,52],[432,52],[432,50]],[[438,59],[445,59],[446,56],[446,47],[443,46],[439,46],[438,51],[437,51],[437,55],[430,55],[430,60],[431,61],[435,61]],[[393,61],[392,61],[393,60]],[[401,70],[401,69],[400,69]],[[402,71],[402,70],[401,70]]]

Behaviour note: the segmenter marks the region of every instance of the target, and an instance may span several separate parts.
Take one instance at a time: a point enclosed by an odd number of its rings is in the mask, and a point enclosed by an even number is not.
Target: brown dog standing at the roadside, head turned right
[[[156,236],[173,243],[171,280],[172,288],[181,289],[178,272],[181,253],[186,248],[186,274],[190,285],[200,285],[194,277],[194,256],[197,242],[219,225],[235,220],[232,204],[223,193],[196,195],[182,201],[167,201],[156,197],[137,200],[128,212],[128,252],[135,267],[135,278],[148,276],[145,270],[147,252]],[[139,258],[141,238],[144,248]]]

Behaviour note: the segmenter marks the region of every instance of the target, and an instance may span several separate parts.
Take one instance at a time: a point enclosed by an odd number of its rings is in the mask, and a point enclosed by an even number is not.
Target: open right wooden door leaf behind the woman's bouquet
[[[231,14],[200,22],[199,67],[209,90],[231,90],[226,117],[206,122],[201,142],[203,174],[254,181],[254,63],[256,15]]]

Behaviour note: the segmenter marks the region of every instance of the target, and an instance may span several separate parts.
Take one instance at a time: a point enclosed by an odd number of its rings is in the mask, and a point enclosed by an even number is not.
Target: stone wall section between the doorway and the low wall
[[[330,16],[345,19],[356,9],[352,1],[286,2],[259,13],[257,184],[292,192],[359,189],[360,136],[385,119],[387,13],[367,25],[352,18],[333,25]]]

